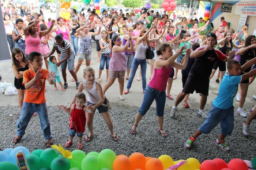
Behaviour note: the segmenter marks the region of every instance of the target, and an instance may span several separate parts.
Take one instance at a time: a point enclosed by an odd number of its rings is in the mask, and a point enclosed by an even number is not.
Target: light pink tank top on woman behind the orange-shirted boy
[[[26,50],[25,50],[25,53],[26,53],[27,55],[29,55],[30,52],[33,52],[33,51],[42,53],[42,52],[41,52],[41,39],[40,39],[40,37],[39,37],[38,32],[37,32],[36,34],[37,34],[37,37],[36,37],[36,38],[33,38],[33,37],[29,34],[29,36],[25,39],[25,43],[26,43]]]

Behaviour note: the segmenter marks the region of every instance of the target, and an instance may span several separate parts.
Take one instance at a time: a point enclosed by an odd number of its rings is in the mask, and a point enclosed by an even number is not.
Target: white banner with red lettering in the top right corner
[[[235,15],[256,16],[256,3],[236,3]]]

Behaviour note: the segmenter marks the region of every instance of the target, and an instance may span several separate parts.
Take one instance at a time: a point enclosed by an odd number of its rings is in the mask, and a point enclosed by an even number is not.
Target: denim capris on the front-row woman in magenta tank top
[[[157,116],[162,117],[165,109],[165,99],[166,99],[165,91],[159,91],[155,88],[147,86],[142,105],[139,108],[139,114],[144,116],[151,104],[155,100],[157,104]]]

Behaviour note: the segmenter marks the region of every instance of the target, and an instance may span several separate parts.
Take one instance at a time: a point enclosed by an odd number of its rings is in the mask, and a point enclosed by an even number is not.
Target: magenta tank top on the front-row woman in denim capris
[[[154,68],[153,77],[149,81],[148,86],[159,91],[165,91],[168,78],[172,74],[172,71],[171,65],[168,67],[163,66],[162,68]]]

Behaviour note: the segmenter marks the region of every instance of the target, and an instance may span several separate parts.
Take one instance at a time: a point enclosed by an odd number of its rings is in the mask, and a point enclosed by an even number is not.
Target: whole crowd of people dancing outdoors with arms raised
[[[142,10],[135,15],[134,11],[123,14],[122,10],[117,12],[108,9],[98,15],[95,9],[92,11],[88,9],[87,13],[82,10],[79,14],[73,9],[69,23],[60,16],[56,21],[50,18],[47,21],[44,19],[43,11],[41,15],[27,12],[22,17],[5,10],[5,31],[12,52],[14,84],[18,90],[20,107],[20,118],[16,123],[18,130],[13,142],[20,141],[31,116],[38,114],[46,145],[47,147],[52,145],[45,100],[45,81],[54,84],[54,90],[58,90],[57,80],[61,90],[65,91],[68,87],[67,67],[78,92],[69,107],[60,106],[60,109],[70,114],[70,138],[65,143],[65,147],[73,144],[73,138],[77,133],[78,149],[83,149],[82,137],[86,123],[89,134],[85,140],[87,142],[91,140],[94,134],[93,117],[96,108],[108,125],[113,140],[119,140],[113,130],[109,114],[110,104],[105,93],[117,79],[118,97],[120,100],[125,100],[124,94],[128,95],[131,90],[137,70],[139,71],[137,80],[142,78],[144,98],[130,133],[136,134],[139,121],[155,100],[158,132],[162,137],[166,137],[167,133],[163,130],[165,102],[166,98],[173,100],[170,94],[172,83],[177,79],[178,70],[182,70],[183,90],[175,100],[170,117],[174,118],[177,106],[182,100],[184,100],[183,105],[189,108],[189,94],[196,91],[201,95],[197,114],[206,118],[196,133],[185,142],[185,148],[190,149],[200,134],[210,133],[221,122],[221,134],[215,144],[222,150],[229,151],[225,137],[231,134],[234,126],[233,99],[238,84],[240,90],[236,98],[239,101],[237,113],[243,117],[247,116],[243,111],[243,105],[249,84],[256,76],[256,37],[248,34],[246,25],[242,27],[242,31],[236,33],[234,29],[229,28],[224,17],[221,17],[217,27],[214,27],[210,19],[204,21],[202,17],[199,21],[196,18],[189,20],[186,17],[180,22],[176,22],[175,19],[173,14],[171,17],[166,13],[161,16],[154,11]],[[53,32],[56,36],[52,34]],[[51,38],[54,39],[53,48],[49,49],[48,41]],[[78,44],[79,39],[80,44]],[[97,46],[99,68],[90,66],[92,41],[95,41]],[[58,55],[52,56],[55,51]],[[146,55],[149,52],[152,58]],[[76,66],[75,58],[78,60]],[[86,68],[83,70],[84,80],[80,83],[77,73],[84,59]],[[43,61],[46,69],[42,69]],[[150,63],[148,84],[147,63]],[[61,83],[58,67],[64,84]],[[107,83],[102,87],[101,75],[104,67]],[[219,93],[207,115],[204,106],[207,102],[210,79],[217,68],[219,72],[216,82],[219,83]],[[98,78],[95,76],[95,71],[98,71]],[[124,91],[125,79],[128,83]],[[82,93],[83,90],[86,91],[87,101]],[[253,98],[256,99],[256,94]],[[252,108],[248,120],[241,123],[245,135],[249,135],[249,124],[256,118],[255,108],[256,105]]]

